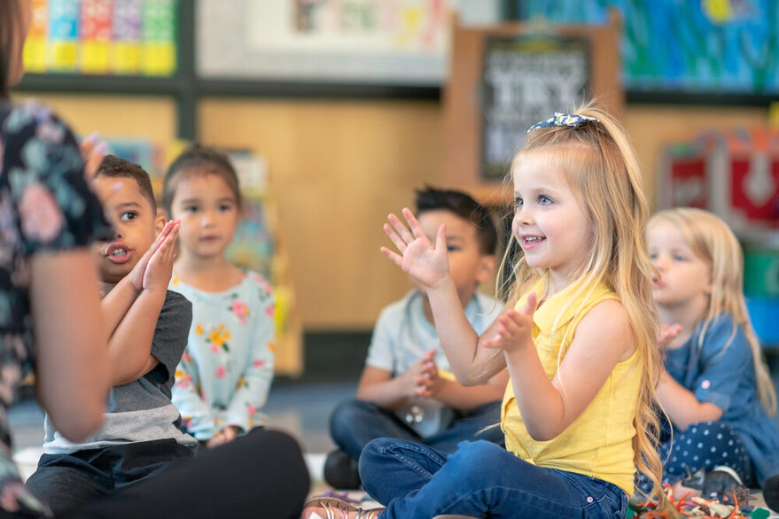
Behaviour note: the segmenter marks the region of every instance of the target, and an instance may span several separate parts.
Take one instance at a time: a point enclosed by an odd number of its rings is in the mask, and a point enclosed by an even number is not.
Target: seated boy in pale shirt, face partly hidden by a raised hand
[[[417,191],[417,219],[435,239],[446,224],[449,270],[468,320],[481,333],[500,314],[495,299],[477,291],[495,273],[498,235],[485,207],[463,192]],[[328,454],[324,478],[336,488],[360,486],[357,461],[374,438],[402,438],[453,453],[459,442],[502,443],[501,400],[509,376],[504,369],[486,384],[465,387],[451,376],[432,323],[430,303],[411,290],[378,317],[357,398],[331,415],[331,437],[339,446]]]

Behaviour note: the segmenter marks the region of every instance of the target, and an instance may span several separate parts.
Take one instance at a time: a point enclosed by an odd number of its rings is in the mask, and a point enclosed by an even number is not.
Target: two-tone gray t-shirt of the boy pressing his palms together
[[[43,452],[69,454],[167,438],[173,438],[181,445],[197,445],[195,438],[179,430],[181,415],[170,401],[175,368],[186,348],[191,321],[190,301],[167,290],[152,338],[152,355],[160,363],[136,381],[111,389],[103,427],[84,443],[74,444],[66,440],[52,428],[46,416]]]

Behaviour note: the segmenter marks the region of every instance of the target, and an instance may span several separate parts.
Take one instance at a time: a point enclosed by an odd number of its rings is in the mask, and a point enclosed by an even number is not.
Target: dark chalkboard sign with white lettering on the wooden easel
[[[589,45],[582,38],[504,38],[485,42],[482,73],[482,167],[500,180],[526,130],[550,112],[582,99],[589,82]]]

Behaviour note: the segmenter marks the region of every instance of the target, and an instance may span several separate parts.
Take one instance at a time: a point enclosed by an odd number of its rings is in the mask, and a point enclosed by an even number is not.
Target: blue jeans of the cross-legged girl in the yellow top
[[[544,469],[500,445],[462,442],[456,453],[379,438],[360,458],[362,486],[386,505],[384,518],[440,514],[560,519],[627,514],[627,494],[601,479]]]

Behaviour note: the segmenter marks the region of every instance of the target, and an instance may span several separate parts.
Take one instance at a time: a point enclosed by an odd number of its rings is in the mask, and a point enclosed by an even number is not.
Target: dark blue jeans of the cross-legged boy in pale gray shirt
[[[332,441],[354,460],[360,459],[365,445],[376,438],[397,438],[430,445],[444,452],[454,453],[464,440],[484,439],[503,445],[503,431],[496,424],[501,421],[501,401],[489,402],[471,413],[457,413],[451,425],[438,434],[420,437],[392,411],[364,400],[346,400],[335,408],[330,417]],[[489,427],[495,425],[495,427]],[[489,429],[484,430],[486,427]]]

